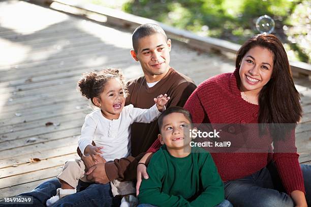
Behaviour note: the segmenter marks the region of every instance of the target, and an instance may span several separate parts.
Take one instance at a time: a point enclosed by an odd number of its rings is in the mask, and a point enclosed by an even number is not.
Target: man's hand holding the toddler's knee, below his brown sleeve
[[[87,180],[95,183],[107,184],[110,182],[106,175],[105,163],[99,163],[90,167],[86,172],[86,175]]]

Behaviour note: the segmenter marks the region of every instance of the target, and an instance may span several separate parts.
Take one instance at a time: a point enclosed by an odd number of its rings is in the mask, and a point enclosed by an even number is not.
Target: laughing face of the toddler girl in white
[[[126,97],[120,80],[112,78],[105,83],[104,90],[98,98],[99,105],[97,106],[107,119],[118,119],[125,105],[125,100]]]

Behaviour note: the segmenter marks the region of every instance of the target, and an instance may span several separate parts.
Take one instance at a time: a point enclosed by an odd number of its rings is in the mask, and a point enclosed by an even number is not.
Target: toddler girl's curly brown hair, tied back
[[[90,99],[95,105],[92,99],[100,96],[104,91],[105,84],[112,78],[120,80],[123,92],[125,96],[127,96],[129,92],[125,77],[123,76],[122,71],[116,68],[108,68],[99,72],[92,71],[84,73],[78,81],[78,90],[82,93],[82,96]]]

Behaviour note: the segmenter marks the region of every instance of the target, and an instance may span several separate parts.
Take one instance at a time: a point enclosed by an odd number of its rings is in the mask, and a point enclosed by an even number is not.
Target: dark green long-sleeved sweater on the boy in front
[[[224,200],[224,184],[211,155],[201,148],[183,158],[166,146],[152,156],[149,179],[139,189],[140,203],[157,206],[215,206]]]

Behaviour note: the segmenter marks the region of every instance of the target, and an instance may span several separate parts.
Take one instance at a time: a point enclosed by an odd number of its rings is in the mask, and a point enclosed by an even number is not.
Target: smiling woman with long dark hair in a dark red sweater
[[[259,34],[239,49],[234,73],[204,81],[185,103],[194,123],[273,123],[260,124],[258,143],[269,147],[273,142],[273,154],[212,153],[234,206],[311,205],[311,166],[299,165],[295,131],[281,124],[299,122],[299,99],[281,41]],[[279,126],[277,133],[271,125]],[[154,143],[149,152],[158,147]]]

